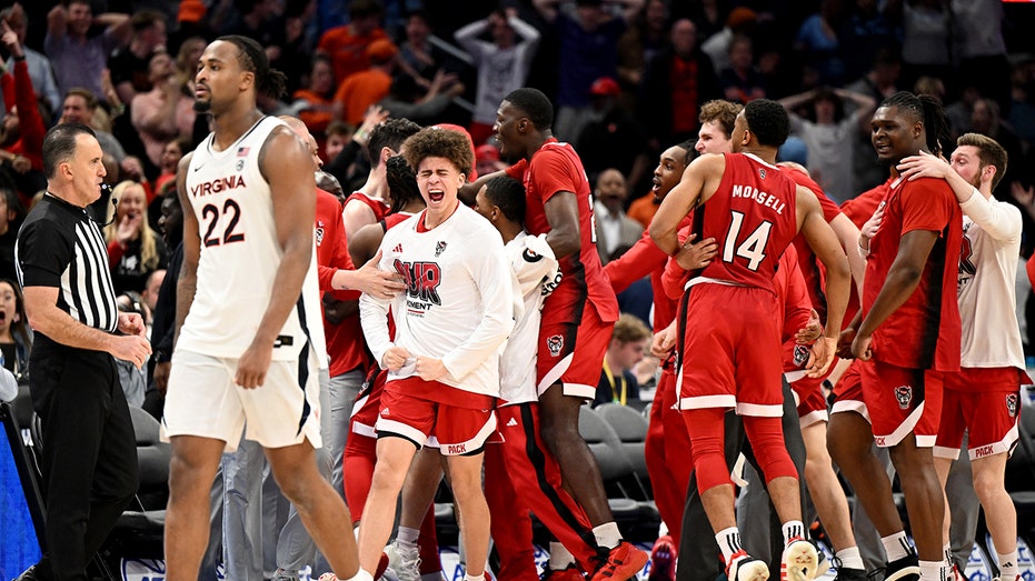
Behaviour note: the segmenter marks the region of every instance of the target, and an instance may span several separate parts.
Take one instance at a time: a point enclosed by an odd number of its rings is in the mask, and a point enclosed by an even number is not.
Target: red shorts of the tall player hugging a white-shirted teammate
[[[593,400],[614,329],[615,323],[604,322],[591,303],[586,304],[577,325],[551,321],[544,311],[536,360],[539,394],[560,382],[565,395]]]

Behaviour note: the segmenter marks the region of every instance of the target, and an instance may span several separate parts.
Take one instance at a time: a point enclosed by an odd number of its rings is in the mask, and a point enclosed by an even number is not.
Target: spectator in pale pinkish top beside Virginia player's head
[[[137,93],[130,104],[130,119],[143,142],[148,160],[158,168],[166,144],[189,138],[195,127],[193,99],[177,76],[172,57],[158,52],[148,66],[152,89]]]

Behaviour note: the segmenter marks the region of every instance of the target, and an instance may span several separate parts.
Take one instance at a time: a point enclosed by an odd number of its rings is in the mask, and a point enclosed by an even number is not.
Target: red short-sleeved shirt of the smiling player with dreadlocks
[[[906,369],[959,369],[959,308],[956,276],[963,211],[945,180],[895,180],[884,200],[884,220],[869,242],[863,287],[863,317],[869,312],[898,256],[898,243],[914,230],[938,233],[913,294],[873,334],[874,359]]]

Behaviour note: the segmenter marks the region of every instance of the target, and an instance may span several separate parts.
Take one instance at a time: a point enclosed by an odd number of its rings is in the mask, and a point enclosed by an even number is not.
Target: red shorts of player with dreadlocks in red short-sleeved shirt
[[[913,433],[918,448],[930,448],[942,417],[942,375],[872,360],[859,370],[874,442],[889,448]]]

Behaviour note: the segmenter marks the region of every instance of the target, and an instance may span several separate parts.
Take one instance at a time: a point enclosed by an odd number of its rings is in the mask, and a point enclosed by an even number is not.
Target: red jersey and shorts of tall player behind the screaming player
[[[537,379],[540,393],[560,382],[565,394],[593,399],[618,301],[597,254],[586,170],[570,144],[549,139],[507,174],[525,184],[525,228],[531,236],[550,231],[545,209],[550,198],[565,191],[576,197],[579,251],[559,260],[563,279],[544,305]]]

